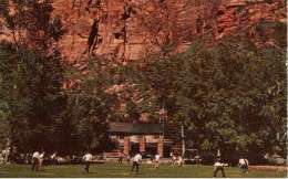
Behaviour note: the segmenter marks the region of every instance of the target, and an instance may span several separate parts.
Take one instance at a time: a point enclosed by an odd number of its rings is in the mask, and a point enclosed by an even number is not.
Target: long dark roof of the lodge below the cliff
[[[110,123],[110,133],[162,134],[162,124],[150,123]]]

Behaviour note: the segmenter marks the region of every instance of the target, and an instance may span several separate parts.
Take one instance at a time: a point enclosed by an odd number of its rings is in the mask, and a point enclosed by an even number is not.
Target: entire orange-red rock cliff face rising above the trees
[[[218,41],[255,23],[287,23],[285,0],[54,0],[53,7],[68,30],[54,45],[71,63],[169,55],[198,36]]]

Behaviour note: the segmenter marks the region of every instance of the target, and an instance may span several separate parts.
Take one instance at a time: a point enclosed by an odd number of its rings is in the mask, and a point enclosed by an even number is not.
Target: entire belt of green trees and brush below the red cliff
[[[249,158],[287,155],[285,25],[269,24],[279,49],[256,49],[248,38],[227,38],[215,46],[200,41],[182,54],[125,66],[92,57],[80,70],[64,63],[50,45],[65,33],[59,17],[50,15],[51,2],[13,3],[16,13],[9,13],[11,3],[0,7],[7,22],[2,27],[24,34],[0,44],[3,146],[11,138],[12,146],[25,151],[101,152],[115,147],[107,122],[135,122],[146,113],[151,123],[158,123],[157,112],[165,106],[165,137],[175,146],[181,145],[184,125],[187,147],[202,154],[219,148],[224,155]],[[43,33],[43,27],[50,31]],[[27,39],[31,31],[42,38]],[[73,85],[63,88],[68,81]],[[113,85],[124,90],[107,93]],[[121,103],[126,104],[123,110]]]

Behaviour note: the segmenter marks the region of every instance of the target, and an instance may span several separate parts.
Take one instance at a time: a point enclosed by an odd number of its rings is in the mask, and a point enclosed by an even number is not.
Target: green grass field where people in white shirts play
[[[39,171],[31,171],[31,165],[0,165],[0,178],[212,178],[213,166],[154,165],[143,164],[138,175],[130,175],[132,164],[93,164],[90,173],[82,173],[83,166],[42,166]],[[249,169],[248,173],[238,172],[236,167],[225,167],[226,178],[287,178],[286,171]],[[217,178],[222,178],[218,171]]]

